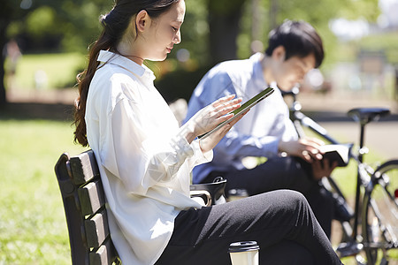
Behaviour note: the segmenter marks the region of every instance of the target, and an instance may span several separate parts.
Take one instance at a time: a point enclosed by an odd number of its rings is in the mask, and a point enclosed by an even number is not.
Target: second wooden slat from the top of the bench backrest
[[[78,194],[83,216],[91,216],[105,205],[103,184],[100,178],[80,187]]]

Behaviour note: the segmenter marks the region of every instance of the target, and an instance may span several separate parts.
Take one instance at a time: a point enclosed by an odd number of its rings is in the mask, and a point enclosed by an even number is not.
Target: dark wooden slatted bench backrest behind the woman
[[[62,154],[55,171],[64,201],[73,265],[119,263],[111,242],[103,185],[93,151],[73,157]]]

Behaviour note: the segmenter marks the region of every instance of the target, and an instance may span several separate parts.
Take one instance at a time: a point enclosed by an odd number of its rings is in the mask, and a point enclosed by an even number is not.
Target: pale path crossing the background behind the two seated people
[[[10,91],[7,98],[11,104],[40,103],[40,106],[45,106],[47,111],[50,110],[51,105],[73,105],[77,95],[78,90],[74,87]],[[398,102],[370,99],[365,95],[317,95],[314,93],[302,93],[298,99],[302,103],[302,111],[323,125],[334,138],[343,142],[357,142],[359,138],[359,125],[347,117],[348,110],[359,107],[389,108],[393,115],[367,125],[365,145],[379,155],[386,155],[386,158],[398,158]],[[29,105],[27,108],[32,107]],[[62,108],[57,110],[62,110]]]

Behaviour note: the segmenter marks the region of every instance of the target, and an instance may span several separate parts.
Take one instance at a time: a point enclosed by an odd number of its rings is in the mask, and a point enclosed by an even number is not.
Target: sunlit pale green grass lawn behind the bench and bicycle
[[[84,56],[79,54],[23,55],[16,87],[34,89],[37,71],[47,76],[43,88],[72,87],[82,65]],[[22,113],[22,119],[0,117],[0,265],[71,264],[54,165],[63,152],[77,155],[86,148],[73,144],[71,122],[29,120],[27,114]],[[335,137],[344,141],[344,135]],[[380,160],[384,158],[378,154],[366,156],[367,162]],[[343,193],[354,198],[356,164],[334,170],[333,177]],[[353,259],[343,262],[356,264]]]

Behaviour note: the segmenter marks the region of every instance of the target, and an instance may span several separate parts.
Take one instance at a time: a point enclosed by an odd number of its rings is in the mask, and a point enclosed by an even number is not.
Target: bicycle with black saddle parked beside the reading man
[[[327,133],[324,127],[302,113],[297,100],[299,88],[282,92],[291,96],[290,118],[299,137],[304,137],[304,128],[316,133],[331,144],[341,144]],[[360,108],[348,111],[360,125],[359,148],[356,153],[349,150],[350,161],[356,162],[356,197],[354,210],[349,207],[346,196],[341,192],[333,177],[323,178],[325,186],[338,201],[341,216],[341,243],[336,252],[341,258],[353,256],[357,264],[388,264],[389,252],[398,248],[398,160],[389,160],[378,167],[364,163],[368,148],[364,147],[364,130],[379,117],[390,114],[386,108]],[[377,263],[379,262],[379,263]]]

